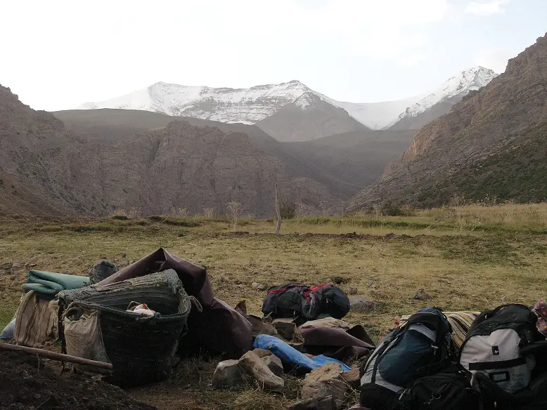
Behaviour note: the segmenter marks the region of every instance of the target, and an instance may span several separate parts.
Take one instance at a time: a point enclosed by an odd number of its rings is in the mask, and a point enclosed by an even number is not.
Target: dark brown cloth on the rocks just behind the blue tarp
[[[300,326],[304,349],[311,355],[325,355],[342,362],[359,359],[375,348],[371,343],[350,335],[344,329],[320,326]]]

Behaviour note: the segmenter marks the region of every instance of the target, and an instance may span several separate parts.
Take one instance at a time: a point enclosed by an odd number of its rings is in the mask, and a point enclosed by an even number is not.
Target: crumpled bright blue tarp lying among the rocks
[[[255,338],[255,343],[252,345],[255,349],[271,350],[274,355],[279,357],[283,362],[292,363],[306,369],[319,369],[324,364],[329,362],[338,363],[342,366],[342,371],[350,371],[351,369],[332,357],[318,355],[316,357],[307,357],[304,353],[299,352],[292,346],[285,343],[280,338],[270,335],[258,335]]]

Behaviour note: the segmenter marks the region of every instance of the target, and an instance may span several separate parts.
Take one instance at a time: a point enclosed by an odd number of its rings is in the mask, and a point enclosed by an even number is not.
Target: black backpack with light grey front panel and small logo
[[[536,359],[522,348],[540,340],[536,316],[525,305],[501,305],[481,312],[461,346],[460,365],[471,385],[477,374],[487,376],[499,391],[515,393],[527,388]],[[488,383],[487,383],[488,384]]]

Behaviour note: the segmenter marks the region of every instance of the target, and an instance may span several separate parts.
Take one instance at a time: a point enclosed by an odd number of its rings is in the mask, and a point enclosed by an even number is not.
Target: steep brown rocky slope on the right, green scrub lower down
[[[547,198],[547,34],[507,70],[427,124],[349,209],[380,202],[436,206],[451,195]]]

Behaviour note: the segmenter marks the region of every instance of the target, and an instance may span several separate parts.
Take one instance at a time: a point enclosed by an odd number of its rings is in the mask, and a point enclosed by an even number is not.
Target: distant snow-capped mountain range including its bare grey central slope
[[[369,103],[337,101],[300,81],[237,89],[160,82],[118,98],[88,102],[79,109],[145,110],[229,124],[257,124],[281,141],[311,140],[333,133],[387,128],[398,122],[397,129],[402,129],[408,119],[423,112],[444,114],[458,98],[488,84],[495,75],[475,67],[451,77],[435,91]],[[435,110],[437,105],[442,105],[442,110]]]

